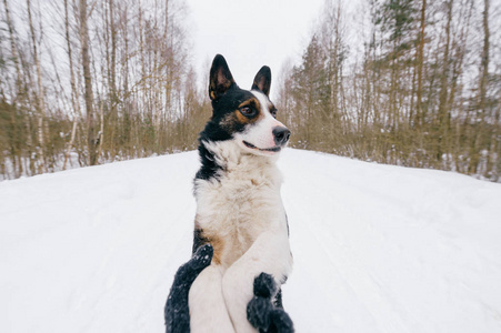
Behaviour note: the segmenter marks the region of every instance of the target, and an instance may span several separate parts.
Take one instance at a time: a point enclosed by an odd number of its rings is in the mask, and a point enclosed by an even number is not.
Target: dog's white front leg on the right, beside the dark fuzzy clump
[[[247,306],[253,297],[254,279],[264,272],[273,276],[274,283],[280,286],[290,273],[291,266],[292,258],[287,233],[270,230],[262,233],[227,270],[222,284],[224,301],[238,333],[257,332],[247,317]],[[277,291],[278,287],[274,292]]]

